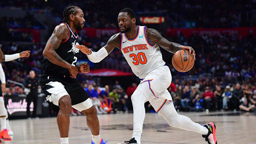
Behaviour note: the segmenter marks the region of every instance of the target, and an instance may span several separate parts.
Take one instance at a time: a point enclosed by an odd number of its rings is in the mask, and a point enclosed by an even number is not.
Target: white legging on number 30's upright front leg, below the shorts
[[[140,144],[140,139],[142,137],[142,128],[145,118],[145,107],[144,103],[146,97],[144,94],[138,90],[135,90],[132,97],[133,105],[133,135],[132,138],[135,138],[137,144]]]

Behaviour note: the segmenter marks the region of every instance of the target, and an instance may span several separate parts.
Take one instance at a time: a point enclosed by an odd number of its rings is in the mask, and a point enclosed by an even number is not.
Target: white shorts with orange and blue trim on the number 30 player
[[[171,85],[171,71],[168,66],[154,69],[140,82],[137,89],[146,96],[146,101],[158,112],[167,102],[172,103],[170,92],[167,88]]]

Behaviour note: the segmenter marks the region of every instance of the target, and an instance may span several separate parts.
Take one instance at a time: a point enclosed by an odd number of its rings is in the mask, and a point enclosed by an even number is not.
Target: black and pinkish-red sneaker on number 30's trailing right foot
[[[208,142],[208,144],[217,144],[217,139],[215,136],[215,133],[216,133],[215,124],[213,122],[210,122],[204,126],[209,130],[209,132],[207,135],[202,135],[203,138],[205,138],[205,140],[206,140],[206,142]]]

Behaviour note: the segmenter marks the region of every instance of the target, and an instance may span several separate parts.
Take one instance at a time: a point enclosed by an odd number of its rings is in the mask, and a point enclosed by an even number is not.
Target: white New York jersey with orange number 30
[[[132,68],[133,73],[140,79],[144,79],[150,71],[164,66],[162,53],[158,44],[152,46],[146,37],[146,26],[137,26],[138,33],[134,39],[128,39],[125,33],[121,33],[120,49]]]

